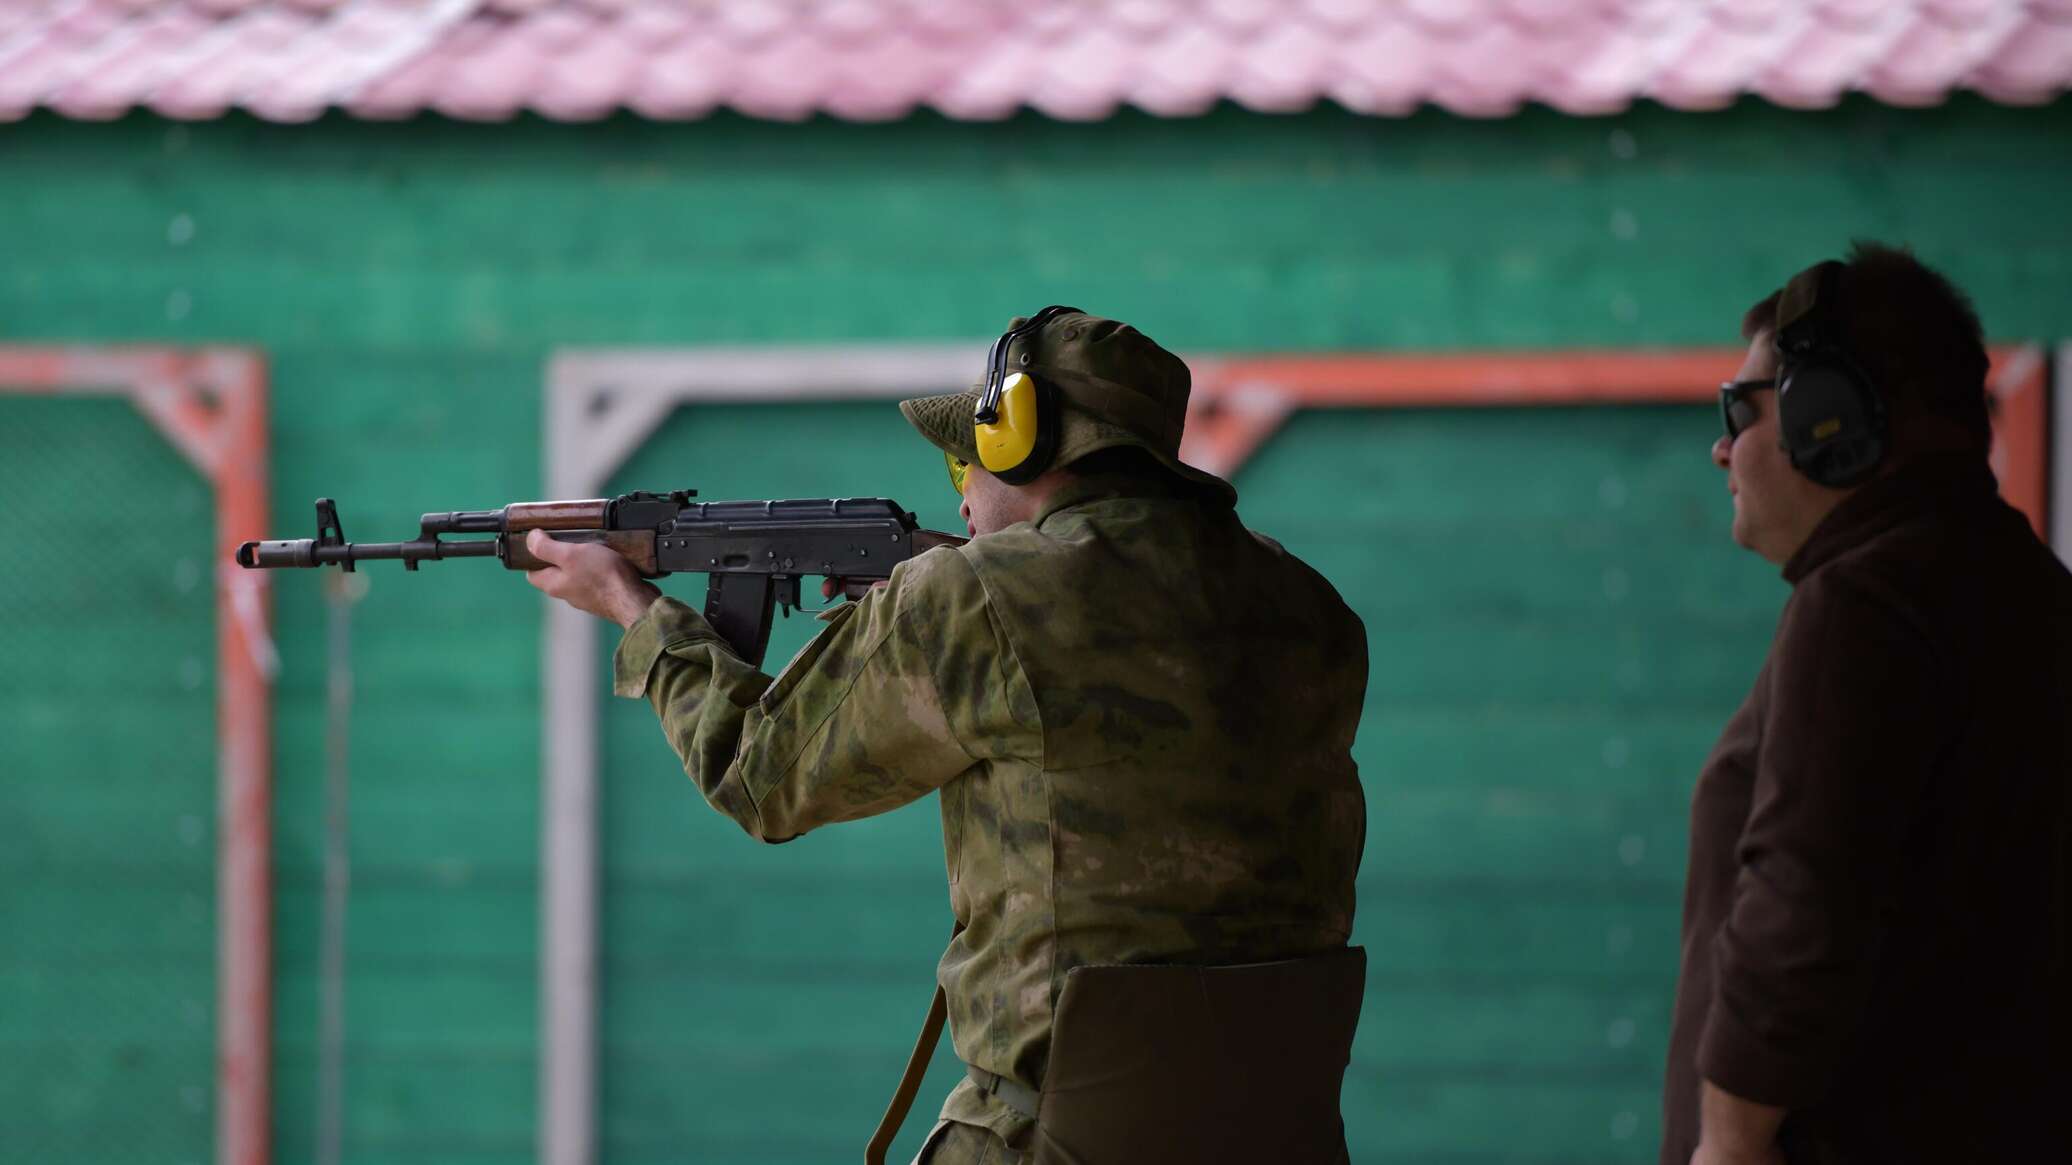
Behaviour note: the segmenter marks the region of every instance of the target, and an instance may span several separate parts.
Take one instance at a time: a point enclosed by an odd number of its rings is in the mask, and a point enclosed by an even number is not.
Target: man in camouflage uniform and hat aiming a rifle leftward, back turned
[[[655,705],[750,835],[941,792],[961,931],[939,981],[972,1072],[934,1163],[1021,1159],[1069,970],[1345,947],[1365,835],[1365,632],[1179,460],[1187,367],[1082,313],[1007,359],[1059,390],[1053,468],[1019,487],[980,468],[976,392],[901,402],[968,475],[974,537],[823,616],[775,680],[615,553],[528,543],[557,564],[539,589],[626,626],[617,694]]]

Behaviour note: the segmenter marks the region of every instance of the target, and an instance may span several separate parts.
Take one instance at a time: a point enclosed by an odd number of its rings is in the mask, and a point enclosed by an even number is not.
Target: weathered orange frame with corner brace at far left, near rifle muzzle
[[[215,1161],[271,1153],[274,645],[265,572],[232,564],[267,527],[267,377],[242,348],[0,344],[0,392],[126,396],[215,491]]]

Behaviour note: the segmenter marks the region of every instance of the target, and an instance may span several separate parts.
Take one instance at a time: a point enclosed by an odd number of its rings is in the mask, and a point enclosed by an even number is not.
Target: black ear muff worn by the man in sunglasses
[[[1842,263],[1801,272],[1778,301],[1778,431],[1792,468],[1828,487],[1871,477],[1886,460],[1886,400],[1842,346]]]

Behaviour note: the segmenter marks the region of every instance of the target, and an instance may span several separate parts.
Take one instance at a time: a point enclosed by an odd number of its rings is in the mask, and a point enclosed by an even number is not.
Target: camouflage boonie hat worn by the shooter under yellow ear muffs
[[[1019,328],[1017,315],[1009,328]],[[1187,365],[1135,328],[1067,313],[1024,336],[1007,350],[1009,373],[1030,373],[1057,388],[1063,431],[1051,468],[1071,464],[1096,450],[1138,446],[1169,471],[1202,487],[1225,506],[1237,504],[1229,481],[1179,460],[1179,435],[1187,423]],[[978,464],[972,413],[984,381],[966,392],[901,400],[899,413],[922,437],[970,464]]]

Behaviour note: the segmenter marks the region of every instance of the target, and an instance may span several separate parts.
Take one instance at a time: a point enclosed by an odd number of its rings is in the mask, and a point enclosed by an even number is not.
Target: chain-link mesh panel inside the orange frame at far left
[[[0,1161],[203,1165],[207,483],[122,398],[0,392]]]

